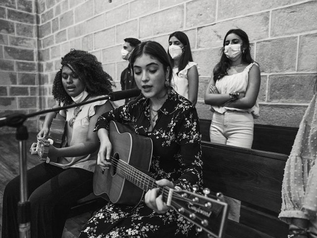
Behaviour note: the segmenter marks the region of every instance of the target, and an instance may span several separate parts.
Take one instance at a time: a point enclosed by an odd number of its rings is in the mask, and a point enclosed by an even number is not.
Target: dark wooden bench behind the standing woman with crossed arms
[[[202,140],[210,141],[211,120],[200,119],[199,124]],[[255,124],[252,149],[289,155],[297,131],[297,127]]]

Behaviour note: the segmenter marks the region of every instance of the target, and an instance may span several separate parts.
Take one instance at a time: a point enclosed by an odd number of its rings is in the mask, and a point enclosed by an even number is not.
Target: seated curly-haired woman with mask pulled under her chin
[[[94,55],[71,50],[62,58],[61,65],[53,82],[53,96],[58,105],[97,99],[112,91],[112,78],[104,72],[101,62]],[[109,101],[102,100],[59,111],[58,116],[67,121],[66,145],[62,148],[50,145],[46,163],[27,172],[32,238],[60,238],[72,205],[93,192],[99,149],[98,135],[93,129],[98,117],[112,109]],[[46,115],[38,138],[47,137],[56,115]],[[37,153],[35,149],[36,143],[33,143],[31,154]],[[3,194],[3,238],[19,237],[18,201],[19,177],[16,177],[6,185]]]

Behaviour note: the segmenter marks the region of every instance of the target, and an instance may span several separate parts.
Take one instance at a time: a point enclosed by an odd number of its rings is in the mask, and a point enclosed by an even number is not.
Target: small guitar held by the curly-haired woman
[[[40,161],[46,161],[47,163],[51,162],[58,162],[58,157],[54,158],[53,160],[48,159],[49,154],[49,147],[50,144],[53,144],[56,148],[61,148],[63,146],[65,140],[65,126],[66,120],[63,119],[53,119],[49,136],[47,138],[38,139],[36,152],[38,154],[38,158]]]

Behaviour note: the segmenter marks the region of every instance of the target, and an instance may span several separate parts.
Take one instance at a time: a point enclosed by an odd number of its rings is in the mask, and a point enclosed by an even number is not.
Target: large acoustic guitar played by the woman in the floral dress
[[[208,188],[203,190],[205,195],[197,194],[197,185],[193,186],[194,192],[159,186],[155,179],[148,176],[152,140],[133,133],[118,122],[110,121],[109,127],[111,165],[106,170],[96,165],[93,182],[96,195],[112,203],[136,205],[142,200],[145,191],[159,188],[166,204],[194,223],[198,231],[204,230],[213,237],[222,237],[227,203],[217,197],[209,197]]]

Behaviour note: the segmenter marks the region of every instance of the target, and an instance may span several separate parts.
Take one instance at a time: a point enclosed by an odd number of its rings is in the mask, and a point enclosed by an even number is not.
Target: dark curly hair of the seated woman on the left
[[[102,63],[97,60],[97,57],[81,50],[70,50],[64,57],[61,58],[62,67],[56,73],[53,82],[53,97],[58,101],[58,104],[64,106],[71,104],[73,101],[65,91],[62,84],[62,68],[69,67],[73,73],[79,76],[79,80],[86,85],[86,91],[91,96],[105,95],[112,92],[113,80],[111,76],[103,70]]]

